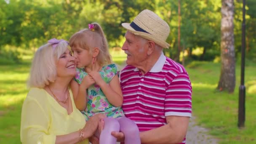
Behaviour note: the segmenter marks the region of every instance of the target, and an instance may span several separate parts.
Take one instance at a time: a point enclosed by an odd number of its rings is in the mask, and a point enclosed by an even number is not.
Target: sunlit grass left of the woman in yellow
[[[21,106],[27,95],[29,63],[0,66],[0,143],[20,143]]]

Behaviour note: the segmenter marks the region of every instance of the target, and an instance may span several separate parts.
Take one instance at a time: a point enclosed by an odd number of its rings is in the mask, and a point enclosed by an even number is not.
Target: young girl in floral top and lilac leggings
[[[69,43],[78,67],[71,82],[77,109],[86,120],[97,113],[107,116],[98,136],[100,144],[116,144],[112,131],[122,131],[126,144],[141,144],[137,125],[124,117],[121,109],[123,95],[117,66],[112,64],[107,40],[99,24],[89,24],[89,29],[72,35]]]

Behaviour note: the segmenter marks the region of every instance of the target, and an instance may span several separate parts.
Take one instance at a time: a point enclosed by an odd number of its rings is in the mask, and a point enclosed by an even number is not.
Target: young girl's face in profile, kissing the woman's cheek
[[[88,67],[90,64],[92,64],[93,56],[88,50],[80,47],[72,47],[71,49],[78,68]]]

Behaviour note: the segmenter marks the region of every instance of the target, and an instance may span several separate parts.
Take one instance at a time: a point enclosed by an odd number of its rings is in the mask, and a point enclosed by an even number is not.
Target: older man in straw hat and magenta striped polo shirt
[[[143,144],[184,144],[192,112],[192,87],[184,67],[164,56],[170,45],[168,24],[144,10],[127,29],[122,50],[127,66],[121,71],[125,116],[139,127]],[[122,132],[112,132],[123,141]]]

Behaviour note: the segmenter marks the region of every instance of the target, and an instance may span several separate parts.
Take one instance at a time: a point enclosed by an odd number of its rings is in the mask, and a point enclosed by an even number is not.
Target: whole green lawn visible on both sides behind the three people
[[[112,52],[117,64],[126,59],[120,51]],[[30,63],[0,65],[0,144],[20,143],[21,106],[27,95],[26,80]],[[193,115],[197,123],[210,129],[220,144],[256,143],[256,65],[245,67],[246,121],[245,128],[237,128],[238,88],[240,67],[234,94],[215,91],[219,81],[220,64],[192,62],[187,66],[192,81]]]

